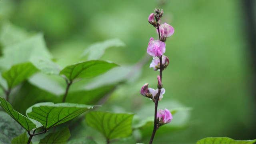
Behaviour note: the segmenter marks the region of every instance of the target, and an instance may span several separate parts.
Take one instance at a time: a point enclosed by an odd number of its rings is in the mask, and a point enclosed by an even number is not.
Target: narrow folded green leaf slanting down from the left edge
[[[9,102],[7,102],[4,98],[0,97],[0,105],[14,120],[16,120],[16,122],[18,122],[27,131],[36,128],[36,125],[31,120],[29,120],[26,116],[23,116],[22,114],[14,110],[12,105]]]

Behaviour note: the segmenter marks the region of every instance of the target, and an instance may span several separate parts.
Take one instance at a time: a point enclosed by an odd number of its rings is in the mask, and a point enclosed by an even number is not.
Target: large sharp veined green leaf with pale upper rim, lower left
[[[84,104],[42,102],[35,104],[26,111],[27,116],[40,122],[46,130],[67,122],[93,108]]]

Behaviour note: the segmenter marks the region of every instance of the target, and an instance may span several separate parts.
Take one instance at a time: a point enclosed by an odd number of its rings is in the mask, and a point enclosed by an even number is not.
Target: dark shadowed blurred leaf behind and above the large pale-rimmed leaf
[[[15,96],[14,100],[12,101],[12,106],[14,109],[19,110],[19,112],[24,115],[26,115],[26,110],[36,103],[61,102],[60,97],[42,90],[41,88],[38,88],[27,81],[22,84],[19,90],[13,91],[12,95]]]

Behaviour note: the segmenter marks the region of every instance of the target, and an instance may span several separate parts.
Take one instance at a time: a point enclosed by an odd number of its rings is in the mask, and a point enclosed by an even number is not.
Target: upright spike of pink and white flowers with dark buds
[[[161,17],[163,16],[163,10],[159,8],[154,10],[154,13],[150,14],[148,17],[148,22],[152,24],[156,28],[156,32],[158,34],[159,40],[154,40],[154,38],[150,38],[148,42],[147,52],[150,56],[152,56],[153,60],[150,63],[150,68],[153,68],[154,71],[159,70],[160,76],[157,76],[158,84],[157,89],[148,88],[148,84],[144,84],[140,90],[140,94],[143,96],[150,98],[155,103],[155,110],[157,110],[158,101],[162,100],[163,94],[165,93],[165,89],[162,88],[162,71],[166,69],[169,65],[169,58],[164,55],[166,52],[166,39],[174,33],[174,28],[167,23],[161,24]],[[171,122],[172,114],[169,110],[159,110],[155,114],[155,122],[154,129],[157,124],[157,128],[162,126],[163,124],[167,124]],[[153,130],[153,133],[155,131]]]

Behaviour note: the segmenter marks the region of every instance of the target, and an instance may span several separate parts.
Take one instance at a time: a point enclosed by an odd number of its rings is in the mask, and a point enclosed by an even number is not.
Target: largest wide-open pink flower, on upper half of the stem
[[[165,53],[165,46],[166,44],[164,42],[150,38],[147,52],[150,56],[157,56],[158,58],[160,58]]]

